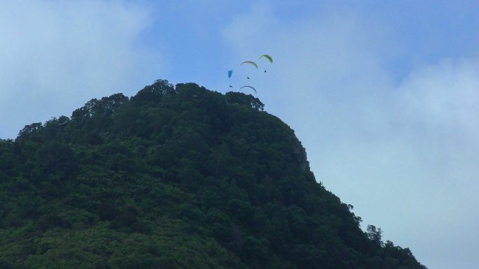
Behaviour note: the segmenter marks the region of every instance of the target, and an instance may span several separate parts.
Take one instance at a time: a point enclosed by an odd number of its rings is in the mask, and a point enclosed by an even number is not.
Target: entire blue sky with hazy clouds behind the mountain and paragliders
[[[0,138],[269,53],[247,83],[317,180],[428,268],[479,263],[477,1],[4,1],[0,35]]]

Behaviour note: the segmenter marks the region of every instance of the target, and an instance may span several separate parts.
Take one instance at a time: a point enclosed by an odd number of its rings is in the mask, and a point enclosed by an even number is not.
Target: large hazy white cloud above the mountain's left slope
[[[69,115],[94,96],[124,90],[146,59],[135,48],[150,23],[145,7],[111,1],[0,5],[0,122],[13,128],[1,130],[2,138],[15,136],[18,122]]]

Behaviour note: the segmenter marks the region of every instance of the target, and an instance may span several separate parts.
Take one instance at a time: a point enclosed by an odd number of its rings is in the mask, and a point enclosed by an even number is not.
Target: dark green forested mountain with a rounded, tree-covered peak
[[[0,140],[0,268],[421,268],[254,96],[158,80]]]

